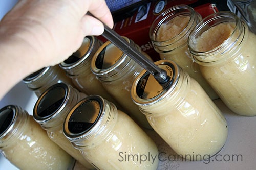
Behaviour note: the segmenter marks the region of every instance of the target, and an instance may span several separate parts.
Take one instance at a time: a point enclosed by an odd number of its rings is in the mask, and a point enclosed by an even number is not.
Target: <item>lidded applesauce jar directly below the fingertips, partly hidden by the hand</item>
[[[102,42],[94,36],[84,37],[80,48],[59,65],[66,71],[78,90],[87,95],[100,95],[104,99],[116,103],[91,71],[92,57],[101,44]]]

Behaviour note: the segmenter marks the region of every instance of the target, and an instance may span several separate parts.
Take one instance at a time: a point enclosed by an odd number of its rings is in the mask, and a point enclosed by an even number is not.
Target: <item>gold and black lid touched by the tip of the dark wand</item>
[[[159,84],[146,70],[143,70],[132,85],[131,96],[137,105],[156,103],[163,99],[176,86],[180,70],[178,65],[170,60],[160,60],[155,64],[167,72],[169,81]]]

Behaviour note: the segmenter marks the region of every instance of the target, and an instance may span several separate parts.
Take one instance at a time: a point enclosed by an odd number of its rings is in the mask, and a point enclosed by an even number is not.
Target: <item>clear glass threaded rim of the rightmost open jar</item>
[[[220,45],[212,48],[208,51],[197,51],[195,49],[195,38],[197,38],[199,35],[201,35],[204,31],[219,25],[220,23],[234,23],[234,29],[232,30],[230,36]],[[224,53],[228,53],[233,51],[232,48],[234,44],[241,41],[243,39],[244,35],[241,35],[244,31],[240,31],[239,29],[244,25],[244,22],[238,18],[238,16],[230,11],[220,11],[213,14],[208,15],[203,20],[201,20],[191,31],[189,37],[188,37],[188,48],[190,53],[193,56],[193,60],[197,62],[200,65],[208,64],[208,63],[214,63],[217,62],[216,60],[207,61],[204,62],[199,59],[199,57],[205,57],[205,56],[211,56],[215,55],[217,53],[222,54],[222,57],[218,58],[218,61],[222,59],[227,59]],[[239,35],[236,35],[236,33],[239,33]],[[234,41],[232,40],[234,39]],[[240,44],[240,43],[239,43]],[[231,55],[229,56],[231,57]]]

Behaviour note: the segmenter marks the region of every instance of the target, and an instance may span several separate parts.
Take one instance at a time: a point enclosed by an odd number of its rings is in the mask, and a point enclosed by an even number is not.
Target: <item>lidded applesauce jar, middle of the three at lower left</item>
[[[33,118],[46,130],[49,138],[60,148],[84,167],[94,169],[80,152],[72,147],[70,141],[63,134],[65,117],[71,108],[86,96],[86,94],[65,83],[55,84],[39,96],[33,109]]]

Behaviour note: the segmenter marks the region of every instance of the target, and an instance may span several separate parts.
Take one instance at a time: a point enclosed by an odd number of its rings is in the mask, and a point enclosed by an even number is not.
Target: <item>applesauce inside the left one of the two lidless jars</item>
[[[212,89],[200,72],[199,65],[193,62],[187,45],[188,34],[182,36],[190,16],[177,16],[168,23],[162,23],[157,32],[157,41],[168,42],[162,47],[165,53],[160,53],[162,60],[168,59],[176,62],[190,77],[194,78],[206,91],[212,100],[218,99],[218,94]],[[160,47],[159,47],[160,48]]]

